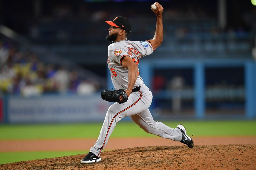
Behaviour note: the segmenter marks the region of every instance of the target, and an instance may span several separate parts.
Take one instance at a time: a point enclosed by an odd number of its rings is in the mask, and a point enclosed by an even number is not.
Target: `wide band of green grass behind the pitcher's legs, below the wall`
[[[256,121],[179,121],[163,122],[175,128],[183,123],[195,136],[255,136]],[[98,138],[102,123],[0,125],[0,140]],[[246,127],[246,130],[244,129]],[[119,122],[111,137],[153,137],[134,122]]]

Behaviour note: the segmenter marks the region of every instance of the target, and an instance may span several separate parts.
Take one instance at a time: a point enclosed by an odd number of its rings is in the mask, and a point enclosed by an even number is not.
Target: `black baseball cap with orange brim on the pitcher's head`
[[[105,22],[111,26],[121,28],[128,33],[130,33],[132,29],[131,23],[126,17],[118,16],[113,21],[105,21]]]

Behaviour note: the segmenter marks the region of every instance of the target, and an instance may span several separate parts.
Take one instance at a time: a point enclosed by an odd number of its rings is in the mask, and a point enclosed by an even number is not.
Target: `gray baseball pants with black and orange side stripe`
[[[114,103],[108,108],[104,123],[100,130],[100,135],[90,152],[100,156],[103,148],[108,143],[108,139],[116,127],[116,123],[122,118],[130,116],[131,119],[147,133],[180,141],[182,139],[181,131],[173,129],[161,122],[155,122],[148,107],[152,102],[152,92],[146,85],[141,85],[140,91],[130,94],[125,103]]]

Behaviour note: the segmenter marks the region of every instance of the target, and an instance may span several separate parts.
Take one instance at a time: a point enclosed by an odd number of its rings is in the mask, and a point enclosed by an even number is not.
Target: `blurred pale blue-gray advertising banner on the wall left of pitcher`
[[[9,123],[37,122],[90,122],[103,121],[112,103],[100,95],[40,97],[10,96],[8,102]]]

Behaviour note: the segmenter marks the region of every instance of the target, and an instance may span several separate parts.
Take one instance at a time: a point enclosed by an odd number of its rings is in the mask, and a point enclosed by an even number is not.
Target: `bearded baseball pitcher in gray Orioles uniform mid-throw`
[[[101,97],[107,101],[114,101],[106,113],[100,135],[90,152],[81,163],[99,162],[100,153],[108,143],[108,139],[122,118],[130,116],[132,121],[143,130],[154,135],[180,141],[189,148],[193,148],[193,140],[186,134],[186,129],[179,124],[177,128],[170,128],[161,122],[155,122],[148,107],[152,102],[152,92],[144,84],[139,74],[140,60],[150,55],[163,41],[163,7],[157,3],[156,32],[151,40],[129,41],[127,35],[131,32],[130,21],[118,16],[113,21],[106,21],[110,25],[107,40],[113,43],[108,46],[107,64],[115,90],[104,90]]]

